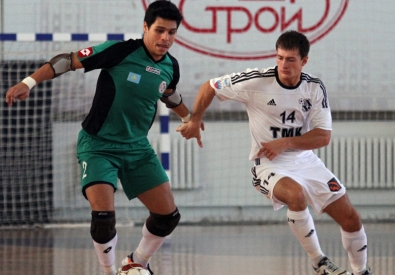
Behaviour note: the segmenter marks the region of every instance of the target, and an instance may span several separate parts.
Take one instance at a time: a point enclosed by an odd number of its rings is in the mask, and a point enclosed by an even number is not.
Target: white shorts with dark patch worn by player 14
[[[275,211],[285,205],[273,197],[274,186],[283,177],[292,178],[303,187],[308,205],[317,214],[346,193],[345,186],[315,155],[292,163],[257,159],[251,174],[254,187],[272,201]]]

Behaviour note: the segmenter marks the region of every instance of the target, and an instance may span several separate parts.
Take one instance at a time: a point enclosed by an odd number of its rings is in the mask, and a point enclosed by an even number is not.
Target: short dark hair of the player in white
[[[276,50],[299,50],[301,58],[306,57],[310,51],[310,42],[307,37],[297,31],[290,30],[280,35],[276,42]]]

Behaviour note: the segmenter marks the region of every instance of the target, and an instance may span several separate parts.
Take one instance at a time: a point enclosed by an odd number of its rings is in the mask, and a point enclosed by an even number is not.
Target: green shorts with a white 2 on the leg
[[[129,200],[169,181],[148,139],[131,144],[112,143],[81,130],[77,158],[82,192],[96,183],[118,188],[118,178]]]

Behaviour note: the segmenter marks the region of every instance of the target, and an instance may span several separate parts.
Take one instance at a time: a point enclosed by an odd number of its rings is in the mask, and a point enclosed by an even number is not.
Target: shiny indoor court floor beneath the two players
[[[321,246],[348,266],[340,230],[317,223]],[[395,223],[365,223],[369,265],[395,274]],[[118,227],[117,262],[140,240],[141,226]],[[1,275],[101,275],[89,226],[0,230]],[[151,259],[155,275],[313,275],[310,262],[284,224],[180,225]]]

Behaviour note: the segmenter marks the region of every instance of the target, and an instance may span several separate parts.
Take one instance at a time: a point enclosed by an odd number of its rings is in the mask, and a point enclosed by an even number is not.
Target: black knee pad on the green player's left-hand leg
[[[91,236],[95,242],[108,243],[116,234],[115,211],[92,211]]]

